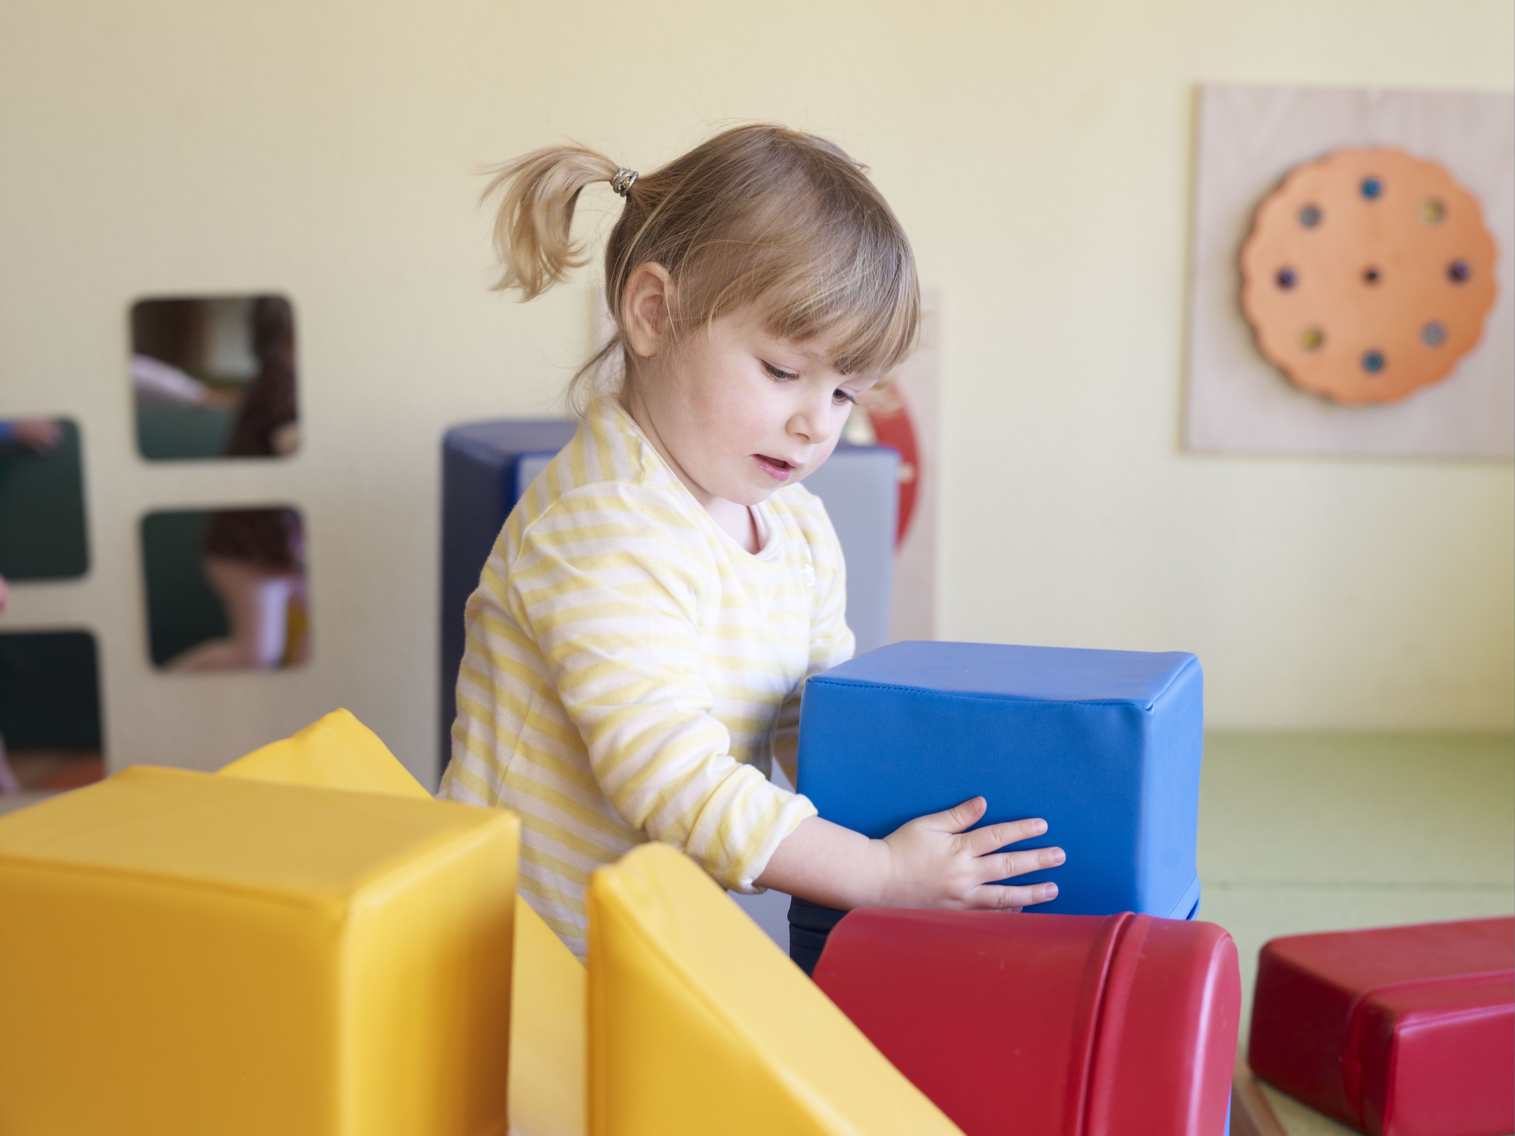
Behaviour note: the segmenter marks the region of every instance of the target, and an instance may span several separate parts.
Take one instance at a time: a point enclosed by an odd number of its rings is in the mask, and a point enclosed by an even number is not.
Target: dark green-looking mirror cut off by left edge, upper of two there
[[[67,418],[0,418],[0,579],[83,576],[85,480]]]

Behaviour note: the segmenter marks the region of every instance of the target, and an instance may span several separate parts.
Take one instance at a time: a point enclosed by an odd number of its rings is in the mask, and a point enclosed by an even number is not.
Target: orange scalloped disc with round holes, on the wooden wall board
[[[1336,150],[1289,171],[1253,215],[1241,307],[1303,391],[1386,403],[1445,379],[1494,304],[1477,198],[1403,150]]]

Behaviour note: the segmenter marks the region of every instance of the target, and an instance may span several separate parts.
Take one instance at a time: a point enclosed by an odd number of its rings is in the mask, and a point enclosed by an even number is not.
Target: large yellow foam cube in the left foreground
[[[156,768],[0,816],[0,1133],[503,1133],[517,841]]]

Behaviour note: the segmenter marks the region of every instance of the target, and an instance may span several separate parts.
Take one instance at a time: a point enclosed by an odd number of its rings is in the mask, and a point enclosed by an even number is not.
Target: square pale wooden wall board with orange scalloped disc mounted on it
[[[1515,94],[1195,91],[1189,453],[1515,457]]]

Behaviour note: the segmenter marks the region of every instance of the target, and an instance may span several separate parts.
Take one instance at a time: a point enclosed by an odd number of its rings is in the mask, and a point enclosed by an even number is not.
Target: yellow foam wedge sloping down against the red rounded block
[[[588,907],[594,1136],[959,1133],[680,853],[633,848]]]

